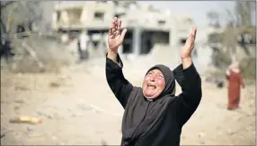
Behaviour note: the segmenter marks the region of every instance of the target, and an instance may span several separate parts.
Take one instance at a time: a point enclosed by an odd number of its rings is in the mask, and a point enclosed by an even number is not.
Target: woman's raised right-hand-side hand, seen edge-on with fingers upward
[[[196,32],[197,32],[197,28],[194,27],[191,30],[190,36],[187,39],[184,47],[182,47],[182,54],[181,54],[182,59],[191,58],[191,52],[194,48],[194,41],[195,41],[195,38],[196,38]]]

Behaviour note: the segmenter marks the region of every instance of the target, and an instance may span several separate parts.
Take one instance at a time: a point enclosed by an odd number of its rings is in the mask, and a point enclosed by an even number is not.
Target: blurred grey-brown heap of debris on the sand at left
[[[73,56],[56,39],[39,35],[12,39],[14,56],[1,66],[15,73],[58,72],[64,65],[73,62]],[[7,65],[6,65],[7,63]]]

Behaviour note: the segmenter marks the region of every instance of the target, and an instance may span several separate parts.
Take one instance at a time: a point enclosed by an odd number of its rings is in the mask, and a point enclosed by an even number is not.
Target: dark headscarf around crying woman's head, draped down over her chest
[[[146,74],[154,69],[158,69],[164,74],[164,91],[156,99],[149,101],[144,96],[142,88],[133,88],[122,120],[122,145],[133,145],[134,142],[137,142],[164,117],[169,103],[174,99],[175,79],[173,71],[163,64],[157,64],[151,67]]]

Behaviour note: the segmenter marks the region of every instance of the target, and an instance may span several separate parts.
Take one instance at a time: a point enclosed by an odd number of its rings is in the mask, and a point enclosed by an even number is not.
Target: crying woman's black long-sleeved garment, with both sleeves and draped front
[[[194,65],[191,64],[183,70],[180,64],[171,73],[182,87],[179,96],[173,96],[172,91],[168,96],[149,101],[144,97],[141,88],[133,87],[124,78],[120,56],[118,62],[120,65],[106,58],[107,82],[125,108],[121,145],[180,145],[182,125],[189,120],[201,99],[201,81]]]

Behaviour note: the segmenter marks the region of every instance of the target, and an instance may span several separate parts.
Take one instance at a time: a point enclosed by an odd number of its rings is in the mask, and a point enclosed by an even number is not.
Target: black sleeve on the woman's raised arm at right
[[[199,106],[202,96],[201,79],[194,64],[183,69],[180,64],[174,71],[176,81],[182,87],[182,93],[176,100],[177,119],[179,125],[184,125]]]

